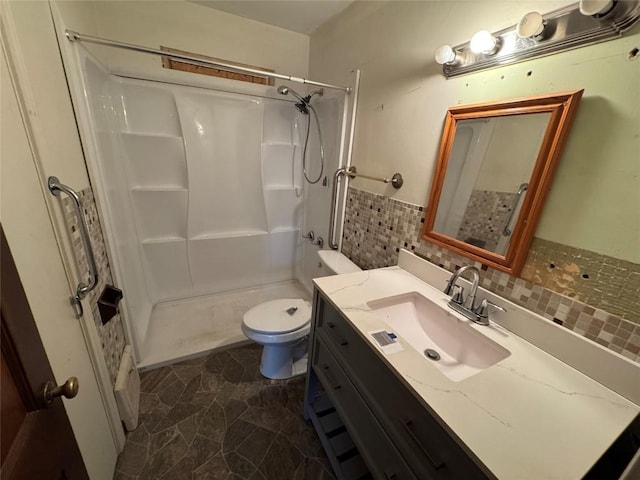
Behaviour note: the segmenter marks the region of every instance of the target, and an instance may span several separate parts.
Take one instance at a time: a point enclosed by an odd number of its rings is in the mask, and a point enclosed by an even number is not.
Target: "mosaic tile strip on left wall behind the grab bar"
[[[113,317],[106,325],[102,325],[102,322],[100,321],[98,299],[106,285],[113,285],[113,278],[91,187],[87,187],[86,189],[78,192],[78,195],[80,196],[80,201],[84,208],[84,214],[89,228],[89,237],[93,247],[93,254],[98,267],[98,285],[95,289],[89,292],[88,298],[91,304],[93,320],[102,344],[102,353],[104,355],[105,362],[107,363],[111,383],[115,384],[118,367],[120,366],[120,357],[122,356],[125,346],[124,327],[122,325],[122,318],[120,314]],[[76,262],[81,275],[86,276],[86,272],[89,271],[89,267],[84,247],[82,245],[82,239],[80,237],[80,227],[78,225],[78,218],[75,214],[75,208],[73,207],[73,203],[69,197],[64,197],[62,202],[65,220],[73,241],[73,252],[76,257]],[[86,315],[87,312],[85,312],[85,316]]]

